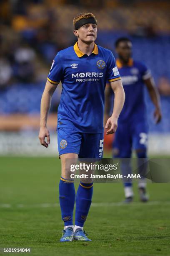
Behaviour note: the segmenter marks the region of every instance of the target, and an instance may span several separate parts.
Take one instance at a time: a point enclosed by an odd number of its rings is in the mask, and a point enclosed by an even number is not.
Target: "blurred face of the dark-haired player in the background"
[[[120,59],[122,59],[125,62],[128,62],[128,60],[132,56],[132,43],[129,41],[122,41],[117,46],[116,51]]]

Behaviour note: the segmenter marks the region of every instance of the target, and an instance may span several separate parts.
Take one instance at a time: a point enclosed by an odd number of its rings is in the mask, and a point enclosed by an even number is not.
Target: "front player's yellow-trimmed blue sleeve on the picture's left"
[[[60,54],[57,53],[55,56],[52,66],[50,69],[50,72],[47,76],[47,80],[52,84],[59,84],[60,80],[63,76],[63,68],[62,68],[62,62],[60,58]]]

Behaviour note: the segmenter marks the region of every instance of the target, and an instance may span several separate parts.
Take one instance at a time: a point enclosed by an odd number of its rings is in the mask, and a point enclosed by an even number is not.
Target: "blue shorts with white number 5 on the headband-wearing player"
[[[79,158],[102,158],[103,133],[80,133],[72,128],[57,128],[59,155],[78,154]]]

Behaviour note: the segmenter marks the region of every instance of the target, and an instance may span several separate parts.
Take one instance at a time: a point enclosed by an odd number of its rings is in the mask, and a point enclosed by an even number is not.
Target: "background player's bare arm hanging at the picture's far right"
[[[155,86],[153,77],[149,77],[149,78],[145,79],[144,83],[148,89],[150,99],[152,100],[153,104],[155,105],[155,111],[154,111],[155,122],[159,123],[162,118],[159,92]]]

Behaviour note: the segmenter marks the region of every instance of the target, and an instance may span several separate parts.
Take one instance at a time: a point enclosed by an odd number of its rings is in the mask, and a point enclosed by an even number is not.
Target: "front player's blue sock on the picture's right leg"
[[[92,202],[93,183],[81,183],[75,199],[75,225],[83,227]]]

